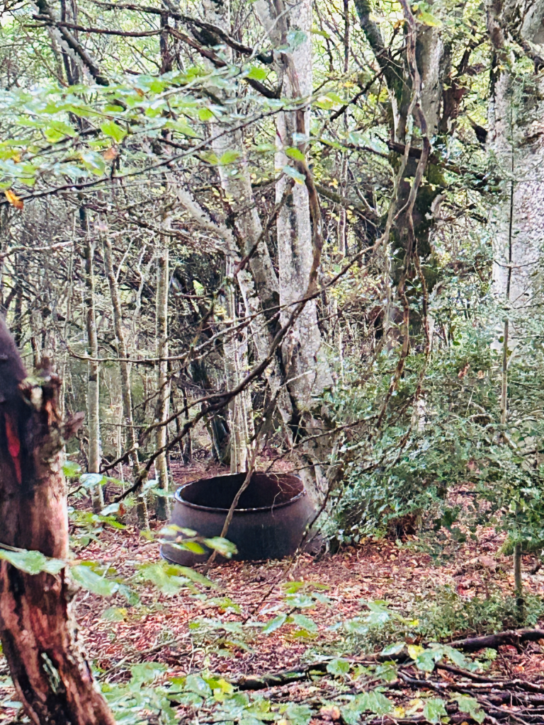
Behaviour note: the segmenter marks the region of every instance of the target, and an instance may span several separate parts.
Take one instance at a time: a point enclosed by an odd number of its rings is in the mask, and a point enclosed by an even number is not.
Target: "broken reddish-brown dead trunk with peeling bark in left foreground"
[[[80,423],[63,423],[60,381],[26,373],[0,320],[1,544],[65,560],[68,526],[62,447]],[[29,574],[0,564],[0,638],[17,699],[36,725],[114,725],[75,642],[67,570]]]

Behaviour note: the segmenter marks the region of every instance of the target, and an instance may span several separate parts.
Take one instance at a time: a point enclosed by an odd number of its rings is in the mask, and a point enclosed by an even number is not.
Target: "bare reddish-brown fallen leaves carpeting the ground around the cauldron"
[[[184,474],[194,476],[195,470],[196,467],[191,468]],[[182,482],[181,476],[178,479]],[[454,495],[461,502],[467,500],[467,492],[462,489]],[[102,673],[101,679],[109,683],[127,682],[131,665],[141,662],[162,663],[163,678],[205,670],[233,683],[264,674],[299,671],[300,676],[292,676],[294,682],[270,687],[261,694],[264,692],[265,697],[278,702],[310,703],[314,723],[347,721],[349,718],[346,720],[347,716],[342,716],[334,705],[335,698],[342,700],[368,689],[368,671],[362,676],[359,673],[359,679],[355,674],[341,674],[338,678],[330,673],[323,676],[321,672],[312,676],[308,674],[309,663],[326,660],[334,653],[336,658],[355,658],[358,663],[368,665],[371,662],[369,642],[379,652],[384,644],[395,641],[395,628],[390,627],[387,636],[378,634],[374,640],[369,640],[368,634],[357,639],[342,634],[345,632],[342,623],[367,616],[366,602],[387,602],[392,612],[414,617],[422,607],[429,610],[430,606],[432,610],[432,602],[437,602],[438,612],[448,602],[448,596],[450,600],[455,599],[458,607],[459,602],[469,602],[474,597],[485,602],[496,599],[501,592],[505,596],[511,594],[514,588],[511,561],[500,555],[502,543],[502,537],[489,526],[478,531],[477,541],[450,542],[440,555],[428,543],[411,536],[405,537],[402,543],[366,542],[318,559],[300,555],[281,562],[231,562],[213,566],[207,572],[214,589],[198,587],[196,594],[189,589],[164,594],[154,587],[139,587],[141,603],[138,606],[128,605],[120,595],[104,599],[80,592],[75,614],[86,655],[94,660]],[[134,576],[135,566],[160,561],[159,545],[133,527],[116,530],[104,526],[97,539],[89,542],[84,550],[76,550],[75,555],[110,566],[117,576],[127,580]],[[529,599],[530,596],[541,599],[544,576],[540,571],[527,573],[534,563],[534,557],[524,558],[524,587]],[[294,624],[284,624],[271,634],[263,634],[259,629],[252,629],[252,634],[245,634],[243,628],[236,631],[235,623],[270,621],[278,613],[287,612],[285,595],[289,586],[293,587],[289,585],[292,582],[304,583],[294,585],[301,592],[317,591],[326,596],[323,602],[316,600],[313,607],[300,610],[311,616],[315,631],[300,634],[300,627]],[[116,608],[118,621],[112,621],[108,614],[104,617],[104,610],[111,613],[112,607]],[[434,628],[445,631],[444,641],[456,639],[459,634],[474,634],[476,628],[472,632],[453,631],[455,623],[452,625],[450,620],[451,616],[448,620],[446,613],[444,621],[440,621],[440,615],[435,613]],[[229,632],[221,629],[221,624],[226,624],[227,629],[235,626]],[[334,625],[337,629],[331,629]],[[490,629],[500,627],[490,625]],[[418,645],[425,639],[414,636],[412,642]],[[431,674],[419,671],[413,664],[403,666],[401,657],[397,676],[386,682],[383,690],[400,709],[391,719],[380,716],[376,722],[433,721],[429,720],[429,711],[426,711],[427,718],[422,714],[424,705],[437,692],[448,691],[450,695],[451,692],[477,695],[487,713],[486,722],[544,723],[544,641],[529,644],[514,641],[501,645],[497,651],[496,659],[487,662],[485,674],[480,672],[477,676],[463,674],[461,670],[456,674],[451,667],[450,671],[435,669]],[[5,660],[0,674],[6,681]],[[529,685],[489,684],[498,680]],[[489,682],[485,684],[486,681]],[[12,703],[15,693],[5,682],[0,698],[3,701],[0,721],[19,722]],[[448,708],[451,722],[474,721],[468,715],[455,712],[455,705],[453,713],[449,705]],[[191,721],[195,713],[190,705],[181,706],[181,722]],[[479,713],[475,718],[481,720],[482,716]],[[152,718],[149,721],[156,722]],[[207,719],[210,721],[213,718]],[[283,725],[285,722],[282,721]]]

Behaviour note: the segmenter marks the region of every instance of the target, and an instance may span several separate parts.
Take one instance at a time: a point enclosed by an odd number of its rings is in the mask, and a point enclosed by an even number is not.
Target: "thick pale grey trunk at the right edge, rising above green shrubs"
[[[511,70],[506,33],[537,49],[544,43],[544,1],[494,1],[488,24],[495,51],[489,146],[502,196],[491,215],[493,290],[518,325],[539,302],[544,251],[544,78]],[[522,312],[523,310],[523,312]],[[530,316],[530,315],[529,315]]]

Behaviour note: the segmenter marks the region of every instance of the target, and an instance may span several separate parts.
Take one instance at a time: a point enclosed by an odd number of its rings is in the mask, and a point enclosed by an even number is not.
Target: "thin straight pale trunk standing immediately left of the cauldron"
[[[168,243],[163,240],[157,257],[157,357],[168,357]],[[157,363],[157,406],[155,407],[155,423],[163,423],[168,418],[170,403],[170,384],[168,382],[168,360]],[[160,425],[155,431],[155,449],[166,445],[167,428]],[[157,489],[168,492],[168,466],[166,454],[161,453],[155,460],[155,476]],[[165,521],[168,518],[168,498],[157,496],[157,518]]]

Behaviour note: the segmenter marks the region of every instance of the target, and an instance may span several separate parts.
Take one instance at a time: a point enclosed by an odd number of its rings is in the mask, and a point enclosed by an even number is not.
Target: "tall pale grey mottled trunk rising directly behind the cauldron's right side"
[[[276,183],[276,203],[285,197],[278,212],[276,233],[278,241],[280,321],[285,325],[289,316],[310,289],[317,289],[317,265],[320,249],[316,239],[321,239],[321,210],[317,199],[310,199],[308,183],[310,172],[305,170],[306,183],[300,181],[300,170],[292,167],[286,151],[296,149],[305,157],[310,136],[310,99],[312,96],[311,57],[311,0],[302,0],[289,7],[283,0],[257,0],[255,12],[268,34],[274,50],[276,70],[281,78],[281,97],[292,101],[293,110],[281,111],[276,120],[277,169],[284,170]],[[297,36],[297,43],[289,38]],[[287,48],[287,49],[286,49]],[[293,153],[292,151],[290,152]],[[314,189],[315,191],[315,189]],[[310,214],[310,203],[313,213]],[[317,207],[317,208],[316,208]],[[322,240],[321,240],[322,241]],[[289,428],[292,442],[298,444],[297,457],[300,476],[314,501],[320,503],[329,487],[321,463],[331,450],[330,436],[326,434],[328,423],[316,418],[316,398],[331,386],[329,365],[321,349],[321,332],[318,328],[315,299],[306,302],[281,345],[284,375],[292,401]],[[324,417],[324,416],[323,416]],[[304,442],[309,438],[309,442]]]

